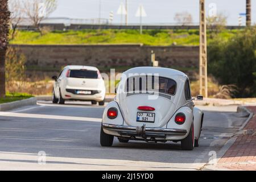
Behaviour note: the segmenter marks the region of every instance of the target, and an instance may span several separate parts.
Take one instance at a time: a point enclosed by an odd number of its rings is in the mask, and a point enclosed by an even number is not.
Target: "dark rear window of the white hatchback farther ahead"
[[[69,73],[71,78],[98,78],[97,71],[85,70],[85,69],[72,69]]]

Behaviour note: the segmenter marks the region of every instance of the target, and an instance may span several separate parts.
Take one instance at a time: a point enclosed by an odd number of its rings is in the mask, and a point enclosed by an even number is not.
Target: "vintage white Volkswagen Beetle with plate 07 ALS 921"
[[[181,142],[183,150],[199,146],[204,113],[194,107],[189,78],[169,68],[137,67],[122,74],[114,101],[105,107],[100,143]]]

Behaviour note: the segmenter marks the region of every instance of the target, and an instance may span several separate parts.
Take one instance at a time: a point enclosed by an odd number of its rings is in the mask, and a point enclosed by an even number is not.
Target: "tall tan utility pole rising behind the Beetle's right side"
[[[207,24],[205,17],[205,3],[200,0],[200,47],[199,47],[199,80],[200,94],[208,97],[207,82]],[[204,92],[203,92],[204,91]]]

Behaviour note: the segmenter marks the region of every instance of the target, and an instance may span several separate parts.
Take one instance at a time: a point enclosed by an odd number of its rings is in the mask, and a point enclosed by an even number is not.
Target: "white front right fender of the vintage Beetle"
[[[203,117],[204,117],[204,112],[200,110],[197,107],[193,108],[193,115],[194,115],[194,134],[195,134],[195,139],[199,139],[200,134],[201,134],[201,128],[203,125]]]

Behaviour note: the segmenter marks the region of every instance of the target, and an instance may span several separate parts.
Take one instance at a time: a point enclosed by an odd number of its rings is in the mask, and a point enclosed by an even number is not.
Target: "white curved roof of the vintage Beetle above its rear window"
[[[159,74],[159,76],[173,78],[173,77],[184,77],[187,78],[188,76],[185,75],[185,73],[181,71],[177,71],[176,69],[171,68],[162,68],[162,67],[136,67],[128,69],[126,72],[124,72],[125,75],[129,77],[129,74],[134,73],[145,73],[145,74]]]

